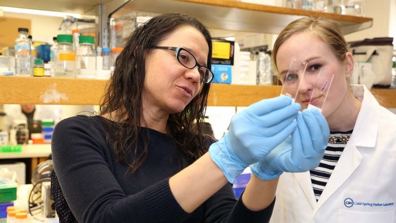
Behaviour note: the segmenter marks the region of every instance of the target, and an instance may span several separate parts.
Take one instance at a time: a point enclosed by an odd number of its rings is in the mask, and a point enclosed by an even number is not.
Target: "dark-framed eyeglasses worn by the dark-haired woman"
[[[170,46],[153,46],[152,48],[155,49],[162,49],[162,50],[172,50],[176,51],[176,58],[178,59],[179,63],[183,65],[185,68],[193,69],[198,66],[199,72],[199,79],[205,83],[209,84],[213,80],[213,73],[209,68],[199,65],[197,59],[186,49],[181,47],[170,47]]]

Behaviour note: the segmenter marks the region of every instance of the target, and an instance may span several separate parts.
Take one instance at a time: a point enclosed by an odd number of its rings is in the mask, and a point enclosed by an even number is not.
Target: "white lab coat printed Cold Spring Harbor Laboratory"
[[[283,173],[271,223],[396,223],[396,115],[352,88],[361,109],[319,201],[309,171]]]

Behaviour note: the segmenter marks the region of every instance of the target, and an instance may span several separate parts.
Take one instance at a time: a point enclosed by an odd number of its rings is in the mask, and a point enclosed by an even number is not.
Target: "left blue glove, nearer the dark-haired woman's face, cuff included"
[[[209,148],[212,160],[230,183],[296,129],[293,120],[300,108],[291,103],[290,97],[279,96],[261,100],[234,115],[229,131]]]

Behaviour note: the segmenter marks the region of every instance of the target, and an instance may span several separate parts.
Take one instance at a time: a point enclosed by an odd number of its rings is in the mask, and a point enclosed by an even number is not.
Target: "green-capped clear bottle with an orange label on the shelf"
[[[58,77],[75,77],[75,53],[73,50],[72,35],[59,34],[57,36],[58,48],[54,54],[55,73]]]

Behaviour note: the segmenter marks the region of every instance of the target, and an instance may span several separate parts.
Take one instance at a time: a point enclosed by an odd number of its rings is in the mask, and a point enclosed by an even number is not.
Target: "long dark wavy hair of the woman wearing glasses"
[[[205,37],[209,47],[207,66],[211,69],[212,38],[207,28],[197,19],[186,15],[159,15],[131,33],[124,50],[115,61],[114,73],[102,99],[99,114],[110,115],[114,122],[107,123],[113,127],[112,129],[115,127],[115,131],[108,132],[108,141],[114,149],[117,161],[127,164],[132,173],[144,163],[147,156],[148,142],[144,142],[143,152],[138,154],[141,123],[145,123],[142,108],[145,54],[182,26],[192,26]],[[209,89],[210,84],[202,84],[198,95],[184,111],[170,114],[167,121],[168,134],[184,154],[185,164],[195,161],[207,150],[207,146],[204,145],[203,117]],[[133,154],[129,163],[128,154]]]

